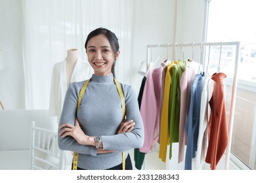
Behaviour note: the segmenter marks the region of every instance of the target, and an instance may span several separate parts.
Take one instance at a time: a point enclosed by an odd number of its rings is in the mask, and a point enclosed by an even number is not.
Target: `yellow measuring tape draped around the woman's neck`
[[[78,100],[77,100],[76,112],[78,112],[78,110],[79,110],[79,107],[80,107],[80,104],[81,104],[81,100],[82,100],[82,97],[83,97],[83,93],[85,93],[85,89],[87,88],[90,80],[91,79],[87,80],[85,82],[85,84],[83,84],[83,88],[81,89],[81,91],[79,93]],[[121,90],[121,86],[116,81],[116,78],[114,78],[114,82],[116,84],[117,91],[118,91],[119,96],[121,98],[121,105],[122,105],[122,108],[123,108],[123,120],[125,120],[125,97],[123,95],[123,91]],[[75,154],[74,154],[74,161],[73,161],[73,170],[77,170],[77,161],[78,161],[78,153],[75,152]],[[122,169],[125,170],[125,152],[122,152]]]

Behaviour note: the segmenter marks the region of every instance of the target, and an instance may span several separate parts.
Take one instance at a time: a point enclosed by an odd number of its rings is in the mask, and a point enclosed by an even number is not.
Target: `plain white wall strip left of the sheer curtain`
[[[0,0],[0,100],[7,109],[25,107],[22,65],[22,1]]]

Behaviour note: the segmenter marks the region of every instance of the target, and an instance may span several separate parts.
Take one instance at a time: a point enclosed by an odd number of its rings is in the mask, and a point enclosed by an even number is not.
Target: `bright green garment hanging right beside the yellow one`
[[[181,77],[184,72],[186,62],[179,61],[173,66],[171,77],[171,89],[169,93],[169,159],[172,158],[172,143],[179,142],[179,122],[181,108]]]

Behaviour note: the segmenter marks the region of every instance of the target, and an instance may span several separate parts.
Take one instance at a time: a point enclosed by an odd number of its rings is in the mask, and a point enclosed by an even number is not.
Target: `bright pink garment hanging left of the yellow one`
[[[160,127],[161,73],[163,67],[151,67],[140,105],[140,114],[144,124],[144,144],[140,152],[148,153],[158,142]]]

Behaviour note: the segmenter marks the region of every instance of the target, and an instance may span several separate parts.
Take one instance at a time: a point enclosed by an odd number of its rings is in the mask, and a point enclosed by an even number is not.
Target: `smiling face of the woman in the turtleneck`
[[[87,58],[95,70],[96,76],[111,75],[111,68],[115,61],[115,53],[111,48],[110,42],[104,34],[92,37],[87,43]],[[119,52],[116,53],[116,59]]]

